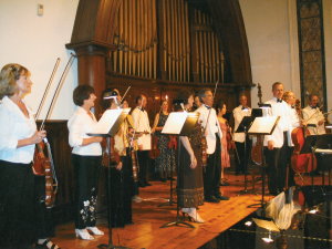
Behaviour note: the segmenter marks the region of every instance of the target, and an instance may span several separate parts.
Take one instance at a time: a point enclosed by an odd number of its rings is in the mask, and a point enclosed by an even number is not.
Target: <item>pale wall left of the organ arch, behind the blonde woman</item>
[[[38,3],[43,4],[43,15],[37,14]],[[31,71],[32,93],[25,100],[30,107],[38,110],[39,103],[56,58],[60,66],[44,105],[45,115],[55,86],[70,58],[65,49],[70,42],[79,0],[1,0],[0,2],[0,66],[10,62],[20,63]],[[76,60],[55,103],[52,120],[66,120],[74,111],[73,89],[77,85]]]

